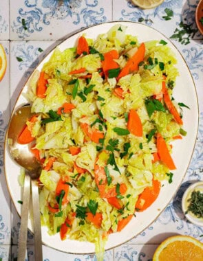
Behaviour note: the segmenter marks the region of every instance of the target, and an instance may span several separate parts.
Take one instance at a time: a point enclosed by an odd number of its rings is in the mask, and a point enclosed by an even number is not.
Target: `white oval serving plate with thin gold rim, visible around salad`
[[[67,38],[67,40],[63,41],[58,47],[61,50],[64,50],[67,47],[72,47],[75,45],[78,36],[82,34],[86,34],[87,38],[96,38],[98,34],[102,34],[107,32],[113,25],[115,24],[123,24],[127,26],[127,34],[133,34],[138,36],[138,41],[142,43],[143,41],[149,40],[164,40],[168,43],[169,47],[175,53],[175,56],[178,60],[178,70],[180,72],[180,76],[177,78],[176,87],[174,89],[173,97],[178,102],[183,102],[190,109],[184,109],[184,130],[187,132],[186,137],[182,140],[177,140],[173,144],[173,159],[175,161],[175,165],[177,170],[173,171],[173,183],[169,184],[168,182],[164,183],[164,186],[161,189],[160,195],[157,200],[151,207],[149,207],[145,212],[136,213],[136,217],[132,218],[131,222],[123,229],[119,234],[111,234],[109,236],[109,240],[106,244],[106,249],[111,249],[118,245],[121,245],[124,242],[127,242],[134,236],[140,234],[141,231],[146,229],[151,223],[153,223],[156,218],[160,215],[160,213],[167,206],[171,198],[178,190],[182,179],[184,178],[184,174],[189,166],[191,161],[191,156],[193,153],[193,148],[195,146],[195,139],[197,136],[197,126],[198,126],[198,104],[197,104],[197,94],[195,91],[195,85],[193,82],[193,78],[189,71],[189,68],[186,66],[184,59],[182,58],[178,49],[160,32],[154,30],[147,25],[142,25],[140,23],[131,23],[131,22],[111,22],[111,23],[103,23],[100,25],[95,25],[93,27],[89,27],[82,32],[78,32]],[[47,60],[52,55],[52,52],[47,55],[47,57],[41,62],[41,64],[36,67],[36,69],[41,70],[43,63],[47,62]],[[23,87],[22,93],[25,93],[27,90],[27,86]],[[14,109],[21,106],[22,104],[27,103],[24,96],[21,94],[17,100],[17,103],[14,106]],[[10,192],[10,196],[12,201],[17,209],[17,212],[20,214],[21,205],[17,203],[19,199],[21,199],[21,188],[19,186],[17,175],[20,172],[19,166],[17,166],[14,161],[10,158],[8,148],[5,148],[5,170],[6,170],[6,180],[8,183],[8,190]],[[29,228],[32,231],[32,223],[29,220]],[[47,234],[47,228],[42,227],[42,240],[45,245],[48,245],[54,249],[58,249],[60,251],[65,251],[69,253],[93,253],[94,252],[94,244],[89,242],[79,242],[76,240],[63,240],[61,241],[59,234],[56,236],[49,236]]]

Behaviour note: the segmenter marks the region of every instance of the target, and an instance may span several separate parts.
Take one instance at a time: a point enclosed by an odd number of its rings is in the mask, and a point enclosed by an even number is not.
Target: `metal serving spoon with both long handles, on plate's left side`
[[[39,210],[39,190],[36,179],[39,178],[41,166],[36,161],[36,157],[31,152],[32,142],[30,144],[19,144],[17,139],[25,123],[32,117],[31,106],[23,106],[14,111],[7,132],[8,148],[14,161],[25,168],[25,181],[23,187],[23,205],[21,209],[21,229],[19,234],[18,261],[25,260],[28,234],[28,212],[30,208],[30,183],[32,188],[32,208],[34,224],[34,249],[35,260],[43,260],[42,242],[41,242],[41,220]]]

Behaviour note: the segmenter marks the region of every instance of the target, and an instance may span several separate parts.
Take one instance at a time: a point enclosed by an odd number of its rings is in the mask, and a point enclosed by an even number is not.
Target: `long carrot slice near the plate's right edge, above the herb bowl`
[[[169,170],[175,170],[176,167],[169,152],[169,149],[167,148],[166,141],[164,140],[162,135],[160,135],[160,133],[158,133],[157,135],[156,146],[160,160],[167,165]]]

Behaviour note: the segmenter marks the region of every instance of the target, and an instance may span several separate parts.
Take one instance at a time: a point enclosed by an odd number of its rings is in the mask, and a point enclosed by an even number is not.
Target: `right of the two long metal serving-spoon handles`
[[[41,242],[41,220],[39,209],[39,190],[36,181],[32,180],[32,206],[34,219],[34,256],[36,261],[43,260],[42,242]]]

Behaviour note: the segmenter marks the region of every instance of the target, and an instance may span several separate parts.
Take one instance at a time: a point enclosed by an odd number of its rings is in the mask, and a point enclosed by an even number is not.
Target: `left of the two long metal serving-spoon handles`
[[[21,229],[19,234],[18,261],[25,261],[28,236],[28,212],[30,207],[30,176],[25,174],[23,187],[23,205],[21,209]]]

